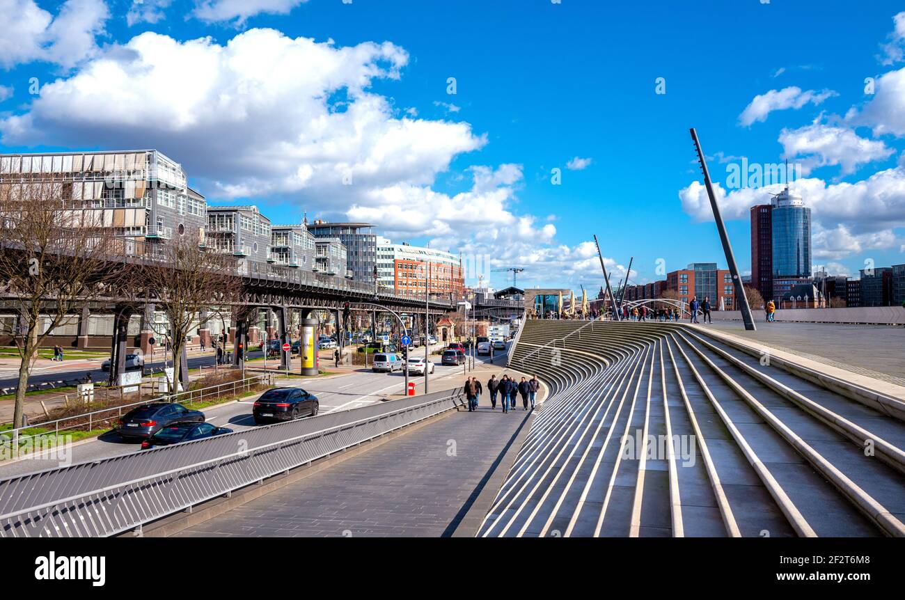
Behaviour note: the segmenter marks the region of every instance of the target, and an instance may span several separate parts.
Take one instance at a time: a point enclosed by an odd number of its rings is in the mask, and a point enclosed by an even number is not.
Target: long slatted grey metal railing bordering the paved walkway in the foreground
[[[104,537],[462,405],[462,388],[0,481],[0,537]]]

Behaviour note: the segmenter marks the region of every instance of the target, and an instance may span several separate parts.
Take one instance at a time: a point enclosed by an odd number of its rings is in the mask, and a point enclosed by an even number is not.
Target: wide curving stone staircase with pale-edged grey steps
[[[700,327],[529,319],[550,395],[479,536],[905,536],[905,403]]]

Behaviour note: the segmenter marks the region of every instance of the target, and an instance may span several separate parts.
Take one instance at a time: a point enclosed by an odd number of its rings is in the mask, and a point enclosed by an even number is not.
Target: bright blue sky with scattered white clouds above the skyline
[[[595,233],[617,278],[631,255],[635,281],[724,262],[693,126],[742,271],[776,186],[727,168],[787,157],[814,265],[857,273],[905,262],[896,4],[0,0],[0,151],[157,148],[211,204],[577,288],[600,283]]]

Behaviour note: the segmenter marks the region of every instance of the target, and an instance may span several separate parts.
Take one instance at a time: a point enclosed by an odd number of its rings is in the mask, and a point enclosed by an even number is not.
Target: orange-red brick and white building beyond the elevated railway
[[[380,287],[423,292],[425,279],[429,280],[431,293],[452,293],[459,297],[465,288],[462,262],[452,252],[377,238],[377,284]]]

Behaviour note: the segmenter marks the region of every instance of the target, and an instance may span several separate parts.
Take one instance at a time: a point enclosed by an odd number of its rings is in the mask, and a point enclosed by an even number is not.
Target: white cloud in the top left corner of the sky
[[[103,0],[67,0],[56,17],[33,0],[0,0],[0,66],[45,61],[71,68],[98,52],[109,17]]]

